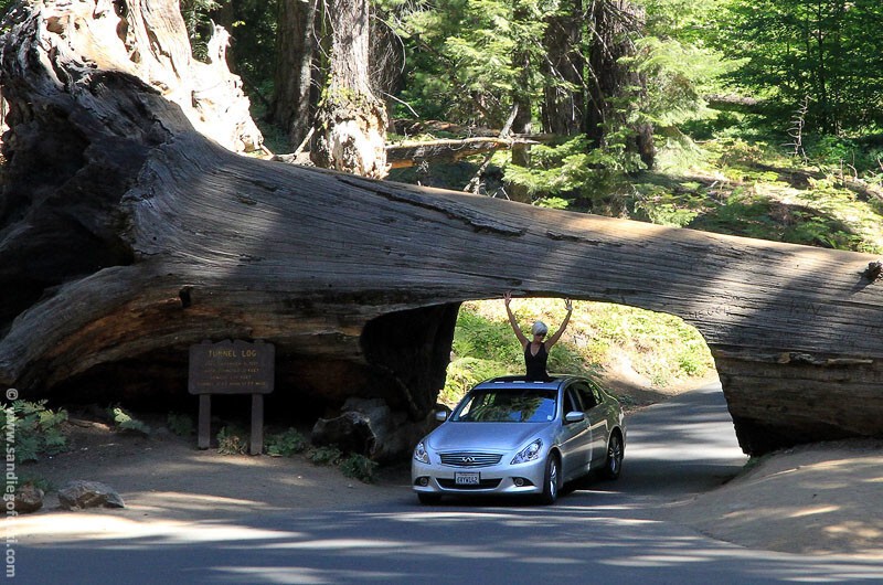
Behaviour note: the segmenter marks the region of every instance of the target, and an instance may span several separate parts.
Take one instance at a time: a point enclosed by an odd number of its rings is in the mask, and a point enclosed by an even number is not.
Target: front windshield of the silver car
[[[471,423],[546,423],[555,418],[554,390],[477,389],[451,417]]]

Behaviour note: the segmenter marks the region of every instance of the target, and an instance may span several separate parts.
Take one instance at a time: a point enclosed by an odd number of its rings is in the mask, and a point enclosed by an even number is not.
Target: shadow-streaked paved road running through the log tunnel
[[[883,563],[748,550],[655,520],[745,457],[720,387],[629,419],[617,482],[543,508],[424,508],[406,488],[361,509],[257,515],[130,540],[17,549],[22,583],[879,583]]]

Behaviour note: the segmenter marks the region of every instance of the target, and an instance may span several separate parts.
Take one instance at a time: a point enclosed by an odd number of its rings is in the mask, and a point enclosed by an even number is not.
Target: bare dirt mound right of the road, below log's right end
[[[661,518],[743,546],[883,559],[883,442],[807,445],[759,458]]]

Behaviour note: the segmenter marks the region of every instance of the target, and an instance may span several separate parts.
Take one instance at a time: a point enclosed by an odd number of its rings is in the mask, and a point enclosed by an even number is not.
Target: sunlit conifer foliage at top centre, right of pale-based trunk
[[[423,117],[502,127],[512,96],[542,86],[539,67],[520,63],[543,63],[543,17],[554,4],[440,0],[391,12],[408,51],[402,99]]]

